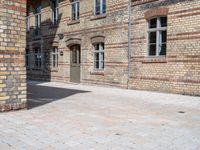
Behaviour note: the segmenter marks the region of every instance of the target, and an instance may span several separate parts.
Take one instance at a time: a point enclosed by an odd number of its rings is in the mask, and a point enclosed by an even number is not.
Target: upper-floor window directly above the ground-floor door
[[[79,0],[71,1],[71,20],[79,20]]]

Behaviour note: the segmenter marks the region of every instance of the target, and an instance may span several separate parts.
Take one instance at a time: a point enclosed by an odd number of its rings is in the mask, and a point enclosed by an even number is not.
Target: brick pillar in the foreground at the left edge
[[[0,0],[0,111],[26,108],[26,0]]]

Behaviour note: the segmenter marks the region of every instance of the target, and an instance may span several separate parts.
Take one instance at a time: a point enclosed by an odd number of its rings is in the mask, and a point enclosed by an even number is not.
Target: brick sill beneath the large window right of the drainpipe
[[[144,58],[142,63],[167,63],[167,59],[166,59],[166,56],[146,57],[146,58]]]

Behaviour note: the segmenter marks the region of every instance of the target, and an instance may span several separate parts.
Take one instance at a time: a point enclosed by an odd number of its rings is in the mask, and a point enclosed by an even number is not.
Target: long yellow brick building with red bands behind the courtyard
[[[200,95],[200,1],[132,0],[130,23],[128,6],[29,1],[28,78]]]

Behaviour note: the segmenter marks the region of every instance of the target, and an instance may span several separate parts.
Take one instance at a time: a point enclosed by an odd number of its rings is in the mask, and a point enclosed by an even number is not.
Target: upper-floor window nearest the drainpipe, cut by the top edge
[[[101,15],[106,13],[106,0],[95,0],[95,15]]]

